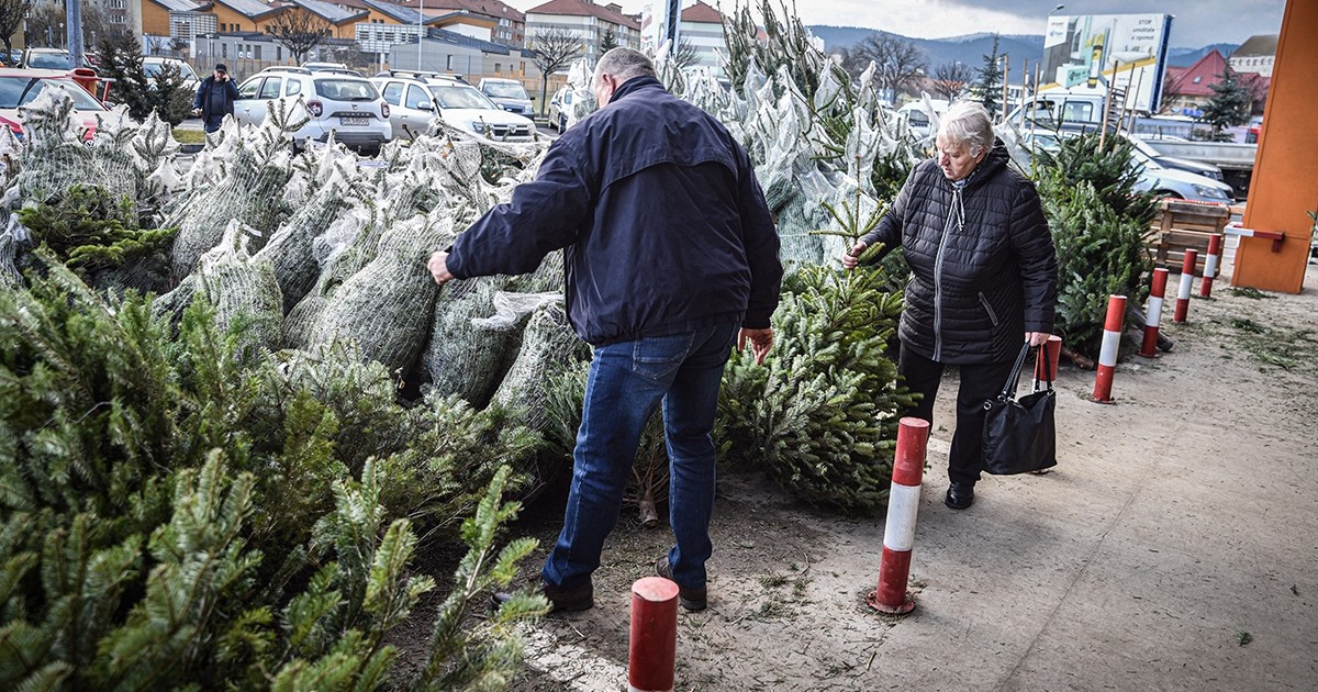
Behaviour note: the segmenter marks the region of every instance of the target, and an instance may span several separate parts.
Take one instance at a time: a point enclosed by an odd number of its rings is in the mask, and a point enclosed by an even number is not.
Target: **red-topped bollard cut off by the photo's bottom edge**
[[[677,584],[645,577],[631,585],[627,692],[671,692],[677,652]]]

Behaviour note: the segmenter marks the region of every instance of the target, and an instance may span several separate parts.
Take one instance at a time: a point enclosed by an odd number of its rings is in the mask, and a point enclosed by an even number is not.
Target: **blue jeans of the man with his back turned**
[[[544,562],[544,583],[575,589],[600,567],[604,539],[622,509],[641,431],[663,402],[668,443],[668,521],[677,546],[668,552],[672,579],[705,585],[713,552],[714,443],[724,365],[738,324],[597,348],[577,431],[572,490],[563,533]]]

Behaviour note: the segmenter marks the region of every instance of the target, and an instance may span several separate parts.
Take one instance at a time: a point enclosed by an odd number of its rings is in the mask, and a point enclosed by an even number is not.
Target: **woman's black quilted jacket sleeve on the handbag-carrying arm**
[[[1023,182],[1012,204],[1011,246],[1020,265],[1025,331],[1053,333],[1057,308],[1057,252],[1035,186]]]

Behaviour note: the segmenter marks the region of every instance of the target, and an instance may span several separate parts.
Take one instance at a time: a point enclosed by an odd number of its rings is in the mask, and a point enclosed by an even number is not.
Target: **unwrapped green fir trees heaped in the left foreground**
[[[414,526],[473,511],[413,684],[507,684],[510,626],[547,604],[471,613],[534,547],[496,547],[517,506],[492,467],[525,431],[406,411],[378,365],[253,362],[204,303],[174,335],[149,301],[46,274],[0,291],[0,688],[397,688],[386,638],[435,587],[407,567]],[[351,468],[337,442],[372,410]]]

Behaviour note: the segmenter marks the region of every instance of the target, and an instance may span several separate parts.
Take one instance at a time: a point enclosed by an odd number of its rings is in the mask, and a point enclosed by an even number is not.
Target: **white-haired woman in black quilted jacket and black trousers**
[[[983,403],[995,397],[1020,355],[1021,339],[1048,340],[1057,299],[1057,256],[1035,186],[1007,167],[988,112],[961,101],[942,116],[938,157],[911,171],[879,225],[842,265],[875,243],[900,245],[911,265],[907,308],[898,332],[898,372],[924,394],[905,413],[933,420],[944,365],[961,374],[957,430],[948,455],[946,505],[975,500]],[[874,260],[878,261],[878,257]]]

